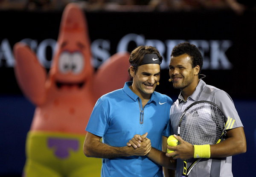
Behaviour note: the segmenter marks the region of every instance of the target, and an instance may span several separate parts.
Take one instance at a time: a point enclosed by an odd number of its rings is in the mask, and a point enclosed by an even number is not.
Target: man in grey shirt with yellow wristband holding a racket
[[[203,57],[195,45],[185,42],[173,48],[169,64],[169,81],[172,81],[173,87],[180,89],[181,92],[171,107],[172,133],[177,135],[180,116],[190,104],[206,100],[220,106],[227,119],[225,139],[216,145],[209,145],[209,158],[199,161],[189,177],[233,177],[232,156],[246,152],[244,128],[230,96],[199,79],[202,66]],[[174,156],[173,159],[177,159],[176,177],[180,177],[183,174],[183,160],[187,160],[187,166],[191,165],[195,157],[195,148],[176,135],[180,145],[168,146],[174,152],[166,153],[166,156]]]

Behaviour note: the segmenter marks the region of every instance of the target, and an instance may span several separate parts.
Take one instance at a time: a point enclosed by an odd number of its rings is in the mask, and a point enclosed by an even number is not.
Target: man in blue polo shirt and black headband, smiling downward
[[[156,48],[137,47],[129,58],[133,80],[96,102],[86,127],[84,154],[102,158],[102,177],[163,177],[162,166],[175,168],[165,155],[172,99],[154,91],[162,60]],[[144,134],[146,140],[138,148],[127,146],[135,134]]]

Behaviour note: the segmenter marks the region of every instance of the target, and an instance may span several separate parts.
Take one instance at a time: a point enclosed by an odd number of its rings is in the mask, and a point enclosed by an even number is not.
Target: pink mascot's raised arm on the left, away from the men
[[[35,105],[45,99],[47,71],[38,62],[34,52],[23,43],[14,46],[15,77],[23,94]]]

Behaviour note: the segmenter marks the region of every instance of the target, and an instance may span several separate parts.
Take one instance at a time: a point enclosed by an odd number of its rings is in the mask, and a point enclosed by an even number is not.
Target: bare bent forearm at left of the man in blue
[[[143,142],[142,148],[133,147],[113,147],[100,142],[101,137],[96,136],[90,132],[84,139],[83,151],[86,157],[96,157],[96,158],[116,158],[116,157],[128,157],[128,156],[144,156],[148,154],[151,150],[150,139]]]

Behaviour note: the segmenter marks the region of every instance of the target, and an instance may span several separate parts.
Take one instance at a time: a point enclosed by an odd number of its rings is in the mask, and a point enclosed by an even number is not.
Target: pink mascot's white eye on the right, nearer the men
[[[72,56],[71,70],[75,74],[81,73],[84,69],[84,57],[80,52],[74,52]]]

